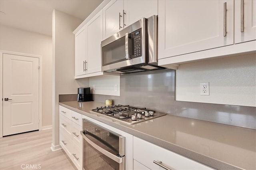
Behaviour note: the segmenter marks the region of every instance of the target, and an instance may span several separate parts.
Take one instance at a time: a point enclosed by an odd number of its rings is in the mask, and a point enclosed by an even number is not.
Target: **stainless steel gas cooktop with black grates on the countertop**
[[[90,112],[103,115],[126,124],[135,124],[166,115],[165,113],[157,113],[156,111],[147,110],[146,108],[140,109],[129,105],[97,107],[96,109],[92,109]]]

